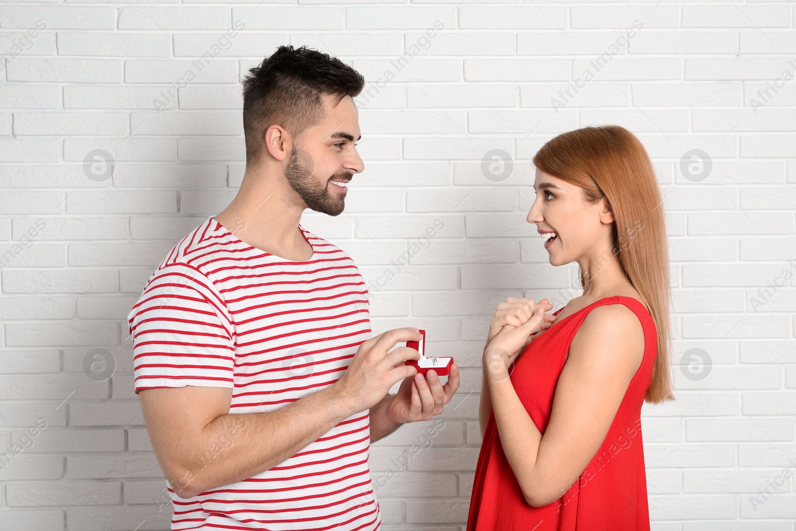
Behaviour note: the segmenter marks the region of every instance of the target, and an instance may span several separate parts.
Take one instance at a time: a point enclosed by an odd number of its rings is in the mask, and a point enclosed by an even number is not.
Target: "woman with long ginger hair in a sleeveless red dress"
[[[484,348],[483,435],[468,531],[649,530],[641,408],[670,400],[669,257],[638,139],[585,127],[533,158],[529,223],[583,295],[497,306]]]

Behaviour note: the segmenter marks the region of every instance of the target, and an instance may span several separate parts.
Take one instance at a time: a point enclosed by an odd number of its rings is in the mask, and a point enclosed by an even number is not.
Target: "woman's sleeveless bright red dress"
[[[641,321],[644,357],[594,458],[556,502],[529,506],[503,453],[494,412],[490,413],[475,469],[467,531],[650,530],[641,408],[657,356],[657,331],[646,307],[632,297],[615,295],[553,322],[517,359],[511,381],[533,424],[544,434],[556,383],[580,323],[593,308],[617,303],[629,307]]]

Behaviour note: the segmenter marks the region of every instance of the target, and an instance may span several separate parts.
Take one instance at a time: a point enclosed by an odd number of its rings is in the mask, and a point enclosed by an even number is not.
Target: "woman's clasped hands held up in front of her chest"
[[[508,377],[509,365],[533,341],[530,336],[547,330],[556,321],[556,315],[544,313],[547,310],[552,310],[548,299],[541,299],[537,304],[533,299],[509,297],[505,303],[497,305],[484,348],[483,366],[487,377]]]

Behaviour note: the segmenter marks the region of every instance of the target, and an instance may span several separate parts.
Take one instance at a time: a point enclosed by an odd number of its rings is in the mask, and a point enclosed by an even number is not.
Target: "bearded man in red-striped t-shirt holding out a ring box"
[[[458,388],[456,365],[443,386],[404,363],[417,350],[393,349],[417,329],[370,337],[356,265],[298,223],[306,208],[340,214],[364,168],[363,85],[305,47],[252,68],[239,192],[168,253],[128,316],[172,529],[377,529],[369,444],[439,415]]]

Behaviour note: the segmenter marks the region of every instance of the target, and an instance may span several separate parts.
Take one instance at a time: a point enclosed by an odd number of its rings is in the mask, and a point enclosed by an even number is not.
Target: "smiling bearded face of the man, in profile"
[[[359,115],[350,96],[338,104],[335,96],[322,100],[326,118],[295,139],[284,174],[307,208],[338,216],[345,209],[345,183],[365,169],[354,144],[361,138]]]

